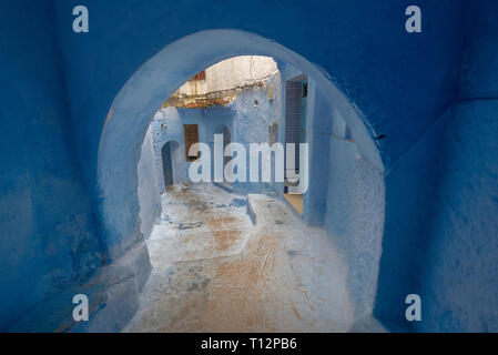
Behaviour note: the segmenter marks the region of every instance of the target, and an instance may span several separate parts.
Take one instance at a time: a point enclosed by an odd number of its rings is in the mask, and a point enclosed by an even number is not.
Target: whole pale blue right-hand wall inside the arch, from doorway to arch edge
[[[292,65],[280,67],[282,85],[303,75]],[[343,115],[313,79],[308,79],[306,114],[311,161],[302,219],[324,227],[346,255],[349,297],[355,316],[362,318],[372,314],[377,292],[384,173],[362,158]]]

